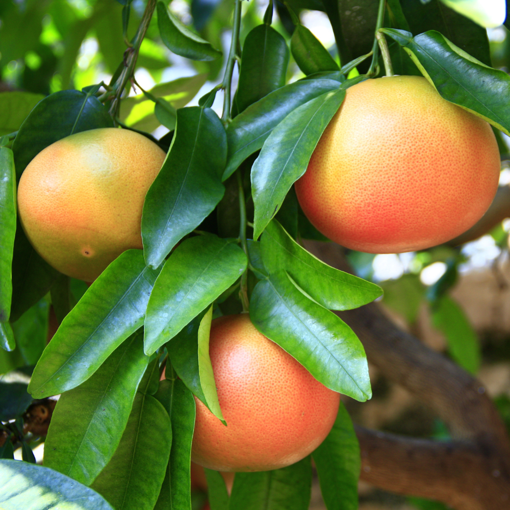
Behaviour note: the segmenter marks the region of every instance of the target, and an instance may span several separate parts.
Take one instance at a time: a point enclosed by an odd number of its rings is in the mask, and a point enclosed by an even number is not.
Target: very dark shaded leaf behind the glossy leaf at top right
[[[491,65],[487,30],[479,24],[456,13],[440,0],[430,0],[426,4],[414,0],[400,0],[400,4],[409,28],[393,28],[409,30],[413,34],[437,30],[475,59]]]

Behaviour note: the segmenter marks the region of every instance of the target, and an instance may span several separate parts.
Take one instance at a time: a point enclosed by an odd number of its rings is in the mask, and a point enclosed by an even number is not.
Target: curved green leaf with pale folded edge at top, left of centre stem
[[[215,60],[221,52],[197,36],[177,19],[163,2],[158,2],[158,27],[163,44],[176,55],[191,60]]]

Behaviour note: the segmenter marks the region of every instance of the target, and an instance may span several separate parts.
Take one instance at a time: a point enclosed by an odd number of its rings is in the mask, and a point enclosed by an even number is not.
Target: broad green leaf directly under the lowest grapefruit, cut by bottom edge
[[[236,473],[228,510],[307,510],[311,491],[309,455],[286,468]]]

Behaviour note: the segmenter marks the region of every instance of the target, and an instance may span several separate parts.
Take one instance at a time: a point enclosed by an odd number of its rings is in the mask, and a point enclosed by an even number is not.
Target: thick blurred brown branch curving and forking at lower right
[[[340,246],[305,244],[327,264],[352,272]],[[358,428],[361,477],[381,489],[437,499],[457,510],[502,510],[510,504],[510,442],[480,382],[401,331],[376,303],[337,314],[363,342],[370,362],[429,405],[454,437],[445,443]]]

